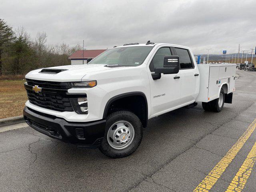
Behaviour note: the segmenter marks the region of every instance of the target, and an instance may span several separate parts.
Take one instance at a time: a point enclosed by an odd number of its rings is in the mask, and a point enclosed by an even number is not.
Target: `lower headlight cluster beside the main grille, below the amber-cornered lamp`
[[[87,97],[70,98],[74,111],[78,114],[88,114]]]

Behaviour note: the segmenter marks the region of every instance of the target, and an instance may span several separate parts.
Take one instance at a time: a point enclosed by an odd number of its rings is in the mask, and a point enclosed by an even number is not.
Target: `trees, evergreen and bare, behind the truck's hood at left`
[[[38,32],[33,39],[24,27],[13,29],[0,18],[0,76],[23,75],[50,66],[70,65],[68,57],[82,50],[78,44],[48,45],[45,32]]]

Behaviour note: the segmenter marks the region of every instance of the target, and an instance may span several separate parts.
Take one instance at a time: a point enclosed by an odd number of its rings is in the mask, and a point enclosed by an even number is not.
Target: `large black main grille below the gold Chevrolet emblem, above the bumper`
[[[63,98],[55,93],[35,93],[27,89],[28,100],[30,103],[42,108],[55,111],[74,111],[69,98]]]

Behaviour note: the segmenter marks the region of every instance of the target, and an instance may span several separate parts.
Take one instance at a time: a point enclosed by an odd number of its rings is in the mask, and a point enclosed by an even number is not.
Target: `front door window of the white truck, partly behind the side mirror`
[[[154,58],[152,59],[150,63],[150,71],[155,71],[155,68],[157,67],[163,67],[164,66],[164,56],[172,55],[171,50],[169,47],[162,47],[158,49],[156,52]]]

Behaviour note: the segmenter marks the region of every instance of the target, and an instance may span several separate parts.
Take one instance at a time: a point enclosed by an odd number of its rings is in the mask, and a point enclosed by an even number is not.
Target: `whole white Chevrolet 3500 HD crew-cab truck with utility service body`
[[[24,118],[51,138],[120,158],[138,148],[150,118],[196,102],[214,112],[232,103],[235,70],[197,65],[185,46],[124,44],[86,65],[29,72]]]

